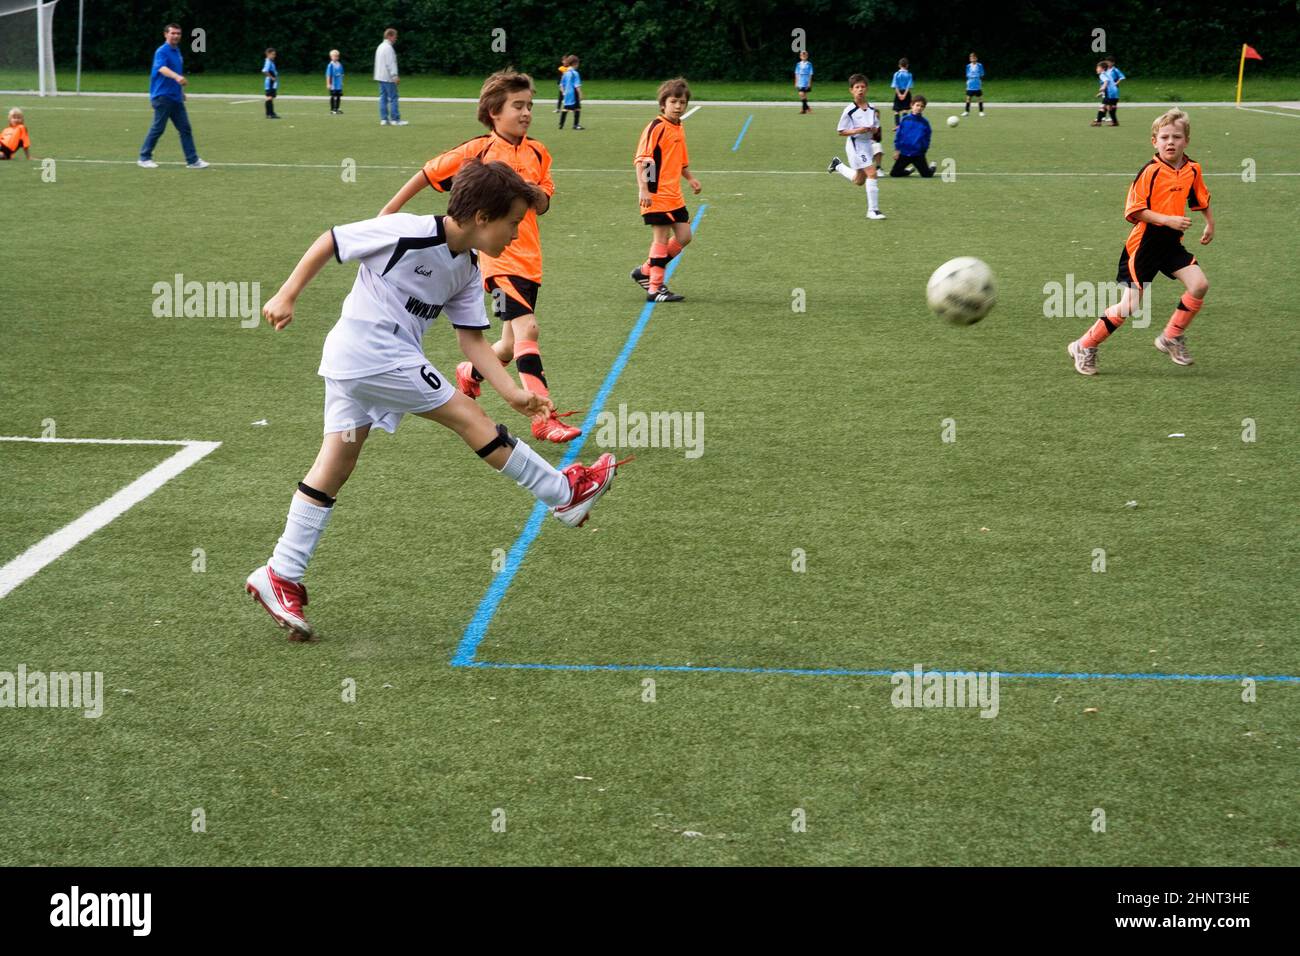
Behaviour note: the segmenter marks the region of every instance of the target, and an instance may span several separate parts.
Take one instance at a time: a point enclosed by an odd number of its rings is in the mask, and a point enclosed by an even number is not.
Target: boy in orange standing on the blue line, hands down
[[[690,245],[690,213],[681,198],[681,181],[699,195],[699,179],[690,174],[686,134],[681,117],[690,104],[690,87],[681,77],[659,85],[659,116],[641,131],[632,165],[637,170],[641,220],[650,226],[650,255],[632,271],[632,281],[646,290],[646,302],[681,302],[663,284],[668,261]]]

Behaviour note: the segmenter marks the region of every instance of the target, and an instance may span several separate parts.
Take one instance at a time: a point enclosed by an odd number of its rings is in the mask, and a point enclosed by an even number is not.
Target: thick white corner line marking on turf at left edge
[[[0,441],[30,441],[60,445],[181,445],[181,450],[161,464],[156,464],[112,497],[101,501],[74,522],[49,535],[4,567],[0,567],[0,598],[25,580],[57,561],[96,531],[139,505],[153,492],[174,479],[195,462],[221,447],[220,441],[156,441],[151,438],[29,438],[0,436]]]

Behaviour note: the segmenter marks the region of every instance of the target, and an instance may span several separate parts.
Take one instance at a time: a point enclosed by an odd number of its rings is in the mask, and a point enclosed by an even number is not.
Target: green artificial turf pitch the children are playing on
[[[633,449],[586,528],[547,518],[474,666],[451,666],[530,499],[430,423],[372,440],[343,490],[308,576],[320,643],[287,644],[242,589],[318,446],[355,268],[328,267],[282,333],[155,317],[152,290],[269,298],[322,229],[474,135],[472,107],[381,129],[373,104],[285,100],[272,124],[256,98],[194,100],[214,164],[195,172],[174,130],[161,169],[135,166],[138,99],[25,105],[56,177],[0,164],[0,434],[221,446],[0,598],[0,670],[107,688],[99,719],[0,710],[0,862],[1300,864],[1295,117],[1193,111],[1218,220],[1196,364],[1152,347],[1160,280],[1150,328],[1084,378],[1065,346],[1091,319],[1044,317],[1044,289],[1114,278],[1152,111],[939,112],[956,178],[885,181],[868,222],[824,172],[832,109],[758,108],[740,138],[749,112],[702,108],[686,300],[654,308],[604,407],[702,414],[703,454]],[[564,407],[592,408],[642,315],[650,114],[589,108],[560,134],[537,113]],[[958,255],[1000,284],[970,329],[924,307]],[[425,346],[455,364],[445,325]],[[0,442],[0,564],[174,451]],[[892,706],[888,672],[914,665],[1039,676],[1004,676],[980,719]],[[1240,675],[1269,678],[1254,702]]]

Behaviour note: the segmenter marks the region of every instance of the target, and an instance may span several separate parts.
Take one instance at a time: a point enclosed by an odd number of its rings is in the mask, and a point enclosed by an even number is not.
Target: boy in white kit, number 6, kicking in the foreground
[[[446,425],[491,467],[515,479],[555,516],[581,525],[608,490],[619,462],[601,455],[592,467],[556,471],[523,441],[495,425],[425,358],[421,341],[439,315],[456,329],[460,351],[512,408],[530,418],[554,411],[551,401],[516,385],[484,339],[482,276],[476,250],[499,256],[519,235],[533,190],[504,163],[465,163],[451,187],[446,216],[395,213],[335,226],[312,245],[263,315],[277,330],[292,321],[294,304],[330,256],[360,260],[339,321],[325,338],[318,373],[325,378],[325,438],[298,484],[285,533],[246,591],[289,630],[307,640],[303,578],[361,446],[377,425],[396,431],[404,414]]]

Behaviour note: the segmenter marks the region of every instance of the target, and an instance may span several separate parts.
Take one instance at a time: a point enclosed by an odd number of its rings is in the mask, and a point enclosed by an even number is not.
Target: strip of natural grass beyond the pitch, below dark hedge
[[[930,96],[936,101],[959,101],[965,91],[961,64],[952,75],[933,77],[918,75],[916,91]],[[989,103],[1088,103],[1097,90],[1096,77],[1092,74],[1092,65],[1084,64],[1084,70],[1071,79],[1036,78],[1036,77],[994,77],[989,74],[984,91]],[[344,99],[347,96],[376,96],[377,86],[370,79],[369,70],[359,64],[351,64],[348,79],[344,85]],[[991,68],[992,69],[992,68]],[[324,94],[325,65],[321,64],[321,77],[286,73],[281,77],[280,91],[283,95],[316,95]],[[603,78],[598,73],[582,70],[582,90],[589,100],[594,99],[642,99],[653,100],[659,81],[655,79],[623,79]],[[829,77],[818,78],[812,85],[810,99],[815,103],[837,103],[844,96],[844,77],[831,82]],[[550,94],[554,85],[549,83],[549,77],[537,75],[542,85],[541,92]],[[13,70],[0,70],[0,90],[27,90],[36,82],[36,73]],[[77,88],[75,72],[60,72],[57,77],[58,88],[70,92]],[[191,92],[216,94],[261,94],[260,73],[195,73],[190,77]],[[793,82],[793,81],[792,81]],[[875,99],[884,100],[889,94],[889,77],[871,77]],[[482,86],[481,77],[437,77],[437,75],[410,75],[402,79],[403,96],[478,96]],[[83,92],[148,92],[148,70],[138,73],[84,73],[82,74]],[[786,100],[793,99],[792,83],[786,82],[725,82],[693,79],[692,92],[697,100]],[[1231,75],[1195,75],[1195,77],[1141,77],[1136,75],[1124,81],[1123,98],[1135,103],[1141,101],[1231,101],[1236,99],[1236,73]],[[1245,100],[1294,100],[1300,90],[1300,78],[1296,77],[1248,77],[1242,96]],[[541,101],[541,100],[540,100]]]

